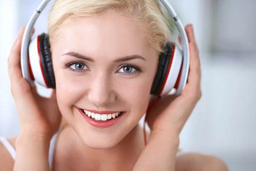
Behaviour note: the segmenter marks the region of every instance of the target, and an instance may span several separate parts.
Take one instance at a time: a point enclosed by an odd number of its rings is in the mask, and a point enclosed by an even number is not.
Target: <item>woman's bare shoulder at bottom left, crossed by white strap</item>
[[[15,148],[16,137],[7,138],[7,140]],[[6,147],[0,142],[0,171],[12,171],[14,166],[14,160],[7,151]]]

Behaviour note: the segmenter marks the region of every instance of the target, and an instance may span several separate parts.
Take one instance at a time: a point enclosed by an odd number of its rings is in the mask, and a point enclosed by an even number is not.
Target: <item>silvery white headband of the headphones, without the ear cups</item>
[[[44,10],[44,8],[47,6],[50,0],[43,0],[34,14],[32,14],[32,17],[30,18],[28,24],[26,25],[22,44],[21,44],[21,53],[20,53],[20,62],[21,62],[21,71],[22,76],[25,78],[29,84],[33,84],[33,81],[29,74],[29,64],[28,64],[28,48],[29,48],[29,42],[30,42],[30,36],[32,34],[32,30],[34,28],[35,22],[38,19],[38,16],[41,14],[41,12]],[[188,38],[184,29],[184,26],[182,25],[180,19],[177,17],[176,12],[172,8],[171,4],[167,0],[158,0],[168,11],[168,13],[171,15],[173,20],[175,21],[175,25],[179,31],[179,34],[181,36],[181,43],[182,43],[182,51],[183,51],[183,65],[182,65],[182,72],[180,77],[180,85],[177,90],[176,94],[180,95],[181,91],[184,89],[186,85],[186,80],[188,78],[189,73],[189,42]]]

